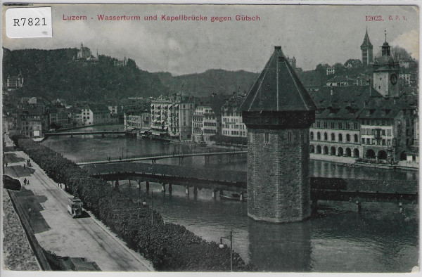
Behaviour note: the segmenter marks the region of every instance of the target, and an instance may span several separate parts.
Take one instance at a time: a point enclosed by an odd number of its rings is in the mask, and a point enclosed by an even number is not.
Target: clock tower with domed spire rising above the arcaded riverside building
[[[399,71],[400,65],[393,60],[390,45],[385,42],[381,46],[381,57],[373,60],[373,88],[384,97],[399,97]]]

